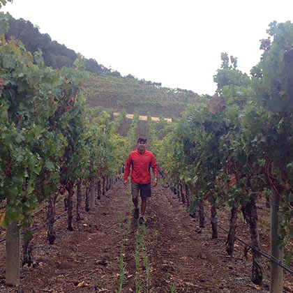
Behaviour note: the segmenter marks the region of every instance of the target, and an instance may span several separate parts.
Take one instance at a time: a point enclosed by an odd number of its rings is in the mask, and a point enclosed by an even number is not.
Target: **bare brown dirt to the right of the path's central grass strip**
[[[173,284],[176,292],[260,292],[253,290],[249,280],[249,264],[230,259],[224,239],[211,239],[209,223],[199,229],[176,195],[160,188],[151,208],[160,247],[151,253],[151,262],[156,264],[153,285],[162,288],[156,292],[171,292]]]

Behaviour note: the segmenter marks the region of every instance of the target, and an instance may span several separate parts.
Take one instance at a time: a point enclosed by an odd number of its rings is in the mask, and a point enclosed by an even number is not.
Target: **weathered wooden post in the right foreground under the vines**
[[[278,215],[280,197],[274,188],[271,188],[271,256],[283,264],[283,247],[277,245],[278,225],[282,216]],[[283,269],[271,262],[270,293],[283,292]]]

